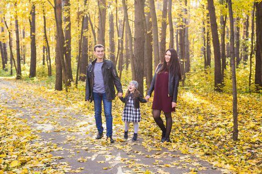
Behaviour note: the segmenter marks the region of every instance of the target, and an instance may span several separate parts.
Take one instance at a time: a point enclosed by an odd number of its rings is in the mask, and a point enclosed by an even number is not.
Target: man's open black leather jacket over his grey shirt
[[[86,72],[86,86],[85,86],[85,100],[93,101],[93,85],[94,85],[94,66],[96,59],[87,66]],[[112,101],[115,98],[115,87],[118,92],[122,92],[122,85],[120,79],[115,70],[115,66],[112,61],[104,59],[102,65],[102,76],[104,80],[106,98]]]

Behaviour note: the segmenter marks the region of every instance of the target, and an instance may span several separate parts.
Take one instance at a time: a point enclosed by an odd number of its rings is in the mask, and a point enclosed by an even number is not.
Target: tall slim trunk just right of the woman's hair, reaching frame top
[[[187,0],[185,0],[185,6],[187,7]],[[187,16],[188,11],[187,8],[184,8],[184,13]],[[190,71],[190,51],[189,51],[189,34],[188,34],[188,25],[189,25],[189,19],[184,18],[184,23],[185,23],[185,28],[184,28],[184,33],[185,33],[185,73],[188,73]]]

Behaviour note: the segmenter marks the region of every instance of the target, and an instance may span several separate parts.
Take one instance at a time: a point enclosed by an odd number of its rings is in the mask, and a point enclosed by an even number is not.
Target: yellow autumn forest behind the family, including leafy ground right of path
[[[124,91],[132,79],[145,94],[165,50],[175,48],[183,79],[172,147],[258,173],[261,28],[262,0],[1,0],[0,76],[84,100],[86,67],[102,44]]]

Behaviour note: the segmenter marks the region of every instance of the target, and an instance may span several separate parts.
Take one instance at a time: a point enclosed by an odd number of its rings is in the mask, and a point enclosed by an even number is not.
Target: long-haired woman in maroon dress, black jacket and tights
[[[168,49],[165,53],[163,63],[156,68],[155,75],[145,99],[149,99],[153,90],[153,117],[162,130],[161,142],[171,142],[170,132],[172,129],[171,112],[175,111],[177,105],[178,85],[181,80],[180,65],[176,50]],[[166,117],[166,127],[160,117],[161,110]]]

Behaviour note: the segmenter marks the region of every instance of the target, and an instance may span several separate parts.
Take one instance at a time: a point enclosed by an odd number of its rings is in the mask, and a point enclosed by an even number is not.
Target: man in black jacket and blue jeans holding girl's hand
[[[114,143],[112,138],[112,100],[115,98],[115,87],[118,96],[123,95],[122,85],[112,61],[104,59],[104,46],[95,45],[94,55],[96,59],[87,66],[85,100],[94,100],[95,123],[98,130],[96,139],[103,137],[102,126],[102,101],[106,118],[106,139],[110,138],[110,143]],[[114,87],[115,85],[115,87]]]

